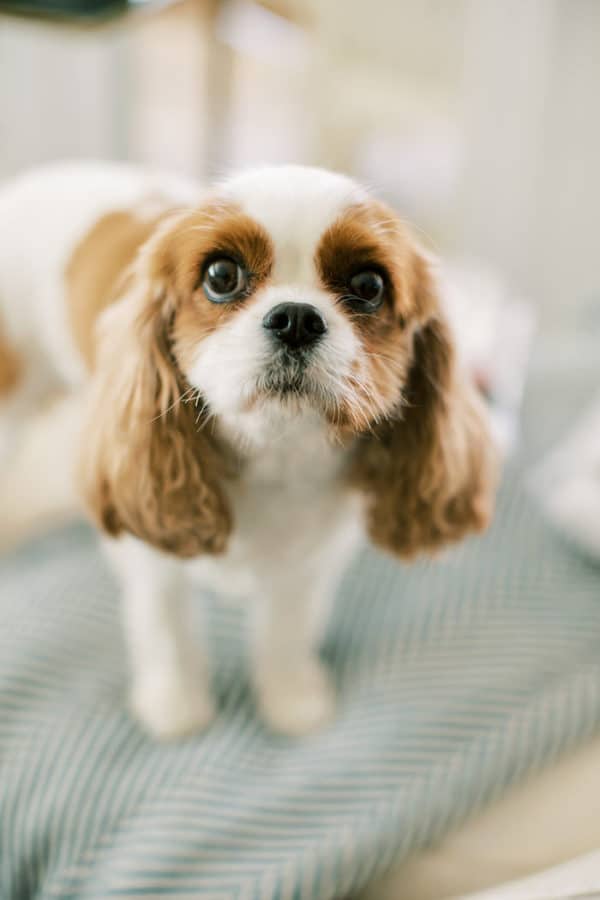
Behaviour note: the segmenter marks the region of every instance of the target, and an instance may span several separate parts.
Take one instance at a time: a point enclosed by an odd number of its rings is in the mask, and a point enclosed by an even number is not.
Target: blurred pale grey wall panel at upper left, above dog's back
[[[127,148],[127,31],[0,16],[0,175]]]

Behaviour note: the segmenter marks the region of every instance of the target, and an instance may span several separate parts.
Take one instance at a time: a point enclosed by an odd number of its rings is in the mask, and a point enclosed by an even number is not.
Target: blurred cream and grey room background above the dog
[[[598,0],[8,0],[0,177],[64,157],[357,175],[442,254],[600,329]]]

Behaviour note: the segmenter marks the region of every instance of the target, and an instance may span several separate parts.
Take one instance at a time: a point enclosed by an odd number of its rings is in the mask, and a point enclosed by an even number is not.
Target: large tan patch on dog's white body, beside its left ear
[[[96,322],[118,296],[123,277],[159,220],[144,221],[116,210],[99,219],[75,248],[65,272],[71,331],[85,363],[93,368]]]

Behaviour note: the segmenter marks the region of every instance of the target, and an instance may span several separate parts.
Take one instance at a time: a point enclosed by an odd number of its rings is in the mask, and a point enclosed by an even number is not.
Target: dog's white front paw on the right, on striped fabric
[[[335,712],[335,691],[316,659],[290,668],[261,666],[256,688],[261,715],[273,731],[299,737],[318,731]]]

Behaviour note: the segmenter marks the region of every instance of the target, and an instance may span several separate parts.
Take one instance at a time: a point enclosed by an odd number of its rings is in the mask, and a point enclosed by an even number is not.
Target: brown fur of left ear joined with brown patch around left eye
[[[231,208],[173,217],[143,248],[101,323],[82,480],[112,535],[129,531],[180,557],[220,553],[231,531],[223,479],[234,471],[182,371],[236,304],[201,294],[207,253],[242,255],[255,282],[271,265],[257,225]]]

